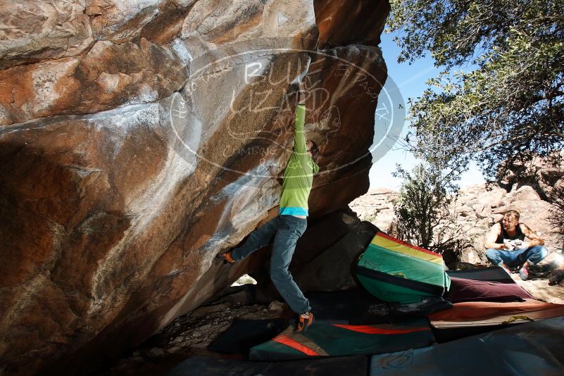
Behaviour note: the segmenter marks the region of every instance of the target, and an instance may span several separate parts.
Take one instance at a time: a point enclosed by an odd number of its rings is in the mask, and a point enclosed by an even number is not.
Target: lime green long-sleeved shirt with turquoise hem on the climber
[[[319,166],[308,155],[306,134],[303,124],[306,120],[306,106],[296,108],[294,125],[294,150],[284,170],[282,193],[280,194],[280,215],[308,215],[308,197],[313,175]]]

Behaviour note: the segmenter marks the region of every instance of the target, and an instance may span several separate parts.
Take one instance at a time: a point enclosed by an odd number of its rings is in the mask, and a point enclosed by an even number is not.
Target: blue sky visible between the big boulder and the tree
[[[434,60],[430,56],[420,58],[411,63],[411,65],[408,63],[398,63],[397,57],[400,49],[393,40],[395,35],[396,33],[382,33],[380,47],[388,66],[388,75],[399,87],[403,100],[406,102],[406,110],[409,111],[408,99],[420,96],[427,87],[425,82],[430,78],[437,77],[440,69],[434,66]],[[409,124],[406,122],[403,128],[404,132],[400,138],[405,138],[408,127]],[[406,170],[411,170],[417,162],[411,153],[401,150],[400,146],[396,144],[382,158],[372,162],[369,174],[370,187],[399,189],[401,179],[391,175],[396,170],[396,163],[401,164]],[[482,173],[475,164],[472,164],[468,172],[462,176],[459,184],[460,187],[466,187],[483,182]]]

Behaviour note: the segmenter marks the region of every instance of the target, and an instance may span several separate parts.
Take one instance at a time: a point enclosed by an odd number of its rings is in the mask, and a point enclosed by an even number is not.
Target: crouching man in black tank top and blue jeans
[[[529,242],[525,242],[525,237]],[[529,277],[529,265],[538,263],[549,254],[544,240],[525,223],[519,223],[517,211],[508,211],[501,223],[491,227],[484,246],[487,258],[494,265],[503,266],[508,271],[510,266],[522,265],[519,270],[522,280]]]

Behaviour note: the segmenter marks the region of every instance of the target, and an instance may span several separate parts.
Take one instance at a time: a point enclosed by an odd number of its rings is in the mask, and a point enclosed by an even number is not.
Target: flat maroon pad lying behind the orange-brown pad
[[[445,299],[452,303],[463,301],[523,301],[534,299],[516,283],[466,280],[451,276],[451,289]]]

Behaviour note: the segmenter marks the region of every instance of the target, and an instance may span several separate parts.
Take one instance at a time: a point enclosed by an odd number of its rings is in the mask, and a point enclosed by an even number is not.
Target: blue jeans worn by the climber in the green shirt
[[[288,306],[299,315],[309,312],[311,307],[308,299],[303,296],[294,282],[288,267],[292,261],[294,249],[296,249],[296,242],[306,231],[306,227],[308,227],[306,218],[278,215],[251,232],[242,246],[231,251],[231,257],[235,261],[241,260],[257,249],[270,244],[270,239],[274,236],[270,256],[270,278]]]

